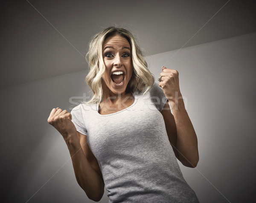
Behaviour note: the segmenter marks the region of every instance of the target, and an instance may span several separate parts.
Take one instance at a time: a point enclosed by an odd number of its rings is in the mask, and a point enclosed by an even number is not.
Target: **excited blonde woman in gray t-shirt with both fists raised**
[[[154,83],[123,28],[96,34],[87,56],[92,99],[71,114],[53,109],[48,118],[66,141],[87,196],[99,201],[105,186],[109,202],[198,202],[177,164],[195,167],[199,159],[178,72],[163,67]]]

